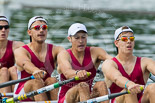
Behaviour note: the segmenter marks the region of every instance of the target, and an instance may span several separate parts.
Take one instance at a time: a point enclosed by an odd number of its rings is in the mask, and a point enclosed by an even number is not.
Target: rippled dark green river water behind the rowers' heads
[[[115,56],[114,31],[120,26],[130,26],[134,30],[136,45],[134,55],[155,59],[155,15],[154,13],[119,12],[83,9],[56,9],[23,6],[11,10],[9,39],[29,43],[28,20],[36,15],[45,17],[49,24],[46,42],[68,49],[69,26],[75,22],[84,23],[88,29],[88,45],[105,49]]]

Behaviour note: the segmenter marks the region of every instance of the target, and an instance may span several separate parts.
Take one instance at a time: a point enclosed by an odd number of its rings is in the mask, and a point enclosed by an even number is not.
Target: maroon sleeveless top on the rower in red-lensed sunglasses
[[[46,58],[45,62],[40,61],[37,56],[32,52],[32,50],[27,46],[24,45],[23,48],[25,48],[31,55],[31,62],[41,70],[44,70],[47,72],[46,77],[44,78],[47,79],[48,77],[51,77],[51,74],[54,70],[54,60],[53,60],[53,55],[52,55],[52,44],[47,44],[47,53],[46,53]],[[32,74],[28,74],[25,70],[21,71],[21,75],[23,75],[22,78],[31,76]]]

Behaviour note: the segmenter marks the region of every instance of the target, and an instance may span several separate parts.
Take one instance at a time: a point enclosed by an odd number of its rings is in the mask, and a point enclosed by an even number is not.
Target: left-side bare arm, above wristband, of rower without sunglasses
[[[71,58],[66,50],[58,54],[58,72],[69,79],[76,75],[76,71],[72,69]]]

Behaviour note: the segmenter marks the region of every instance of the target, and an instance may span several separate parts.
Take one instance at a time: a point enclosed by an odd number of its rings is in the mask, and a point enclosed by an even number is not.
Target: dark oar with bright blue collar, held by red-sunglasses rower
[[[30,79],[34,79],[34,76],[32,75],[30,77],[26,77],[26,78],[23,78],[23,79],[11,80],[11,81],[2,83],[2,84],[0,84],[0,88],[7,87],[7,86],[10,86],[10,85],[14,85],[16,83],[20,83],[22,81],[26,81],[26,80],[30,80]]]

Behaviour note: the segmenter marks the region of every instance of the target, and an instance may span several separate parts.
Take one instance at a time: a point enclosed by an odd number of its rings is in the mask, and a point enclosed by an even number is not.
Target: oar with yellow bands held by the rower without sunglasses
[[[87,76],[90,76],[89,72],[87,72]],[[67,84],[69,82],[72,82],[72,81],[75,81],[75,80],[79,80],[79,77],[76,76],[76,77],[74,77],[72,79],[60,81],[60,82],[54,83],[52,85],[40,88],[40,89],[38,89],[36,91],[32,91],[32,92],[17,96],[15,98],[9,98],[9,99],[6,100],[6,103],[15,103],[15,101],[25,100],[25,99],[27,99],[29,97],[32,97],[32,96],[35,96],[37,94],[48,92],[48,91],[51,91],[51,90],[53,90],[55,88],[59,88],[59,87],[65,85],[65,84]]]

